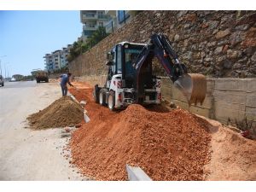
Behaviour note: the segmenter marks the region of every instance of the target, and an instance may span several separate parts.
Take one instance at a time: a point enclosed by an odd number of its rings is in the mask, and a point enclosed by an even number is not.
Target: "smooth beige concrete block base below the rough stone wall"
[[[76,79],[102,86],[106,78],[105,75],[98,75]],[[256,79],[207,79],[207,97],[204,103],[190,108],[186,98],[169,78],[161,77],[161,82],[162,96],[166,101],[225,124],[235,124],[236,121],[247,119],[253,122],[253,129],[256,131]]]

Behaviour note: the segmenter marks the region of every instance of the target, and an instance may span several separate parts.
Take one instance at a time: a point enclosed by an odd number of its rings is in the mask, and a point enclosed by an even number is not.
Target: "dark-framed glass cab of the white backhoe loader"
[[[115,74],[121,74],[123,85],[133,87],[135,84],[136,69],[134,63],[145,44],[122,42],[116,44],[107,54],[108,81]]]

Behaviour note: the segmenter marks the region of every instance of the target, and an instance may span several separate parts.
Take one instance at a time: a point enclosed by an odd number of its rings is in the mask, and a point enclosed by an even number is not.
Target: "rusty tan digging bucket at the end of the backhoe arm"
[[[189,106],[192,103],[204,102],[207,94],[207,79],[202,74],[188,73],[174,82],[174,85],[187,97]]]

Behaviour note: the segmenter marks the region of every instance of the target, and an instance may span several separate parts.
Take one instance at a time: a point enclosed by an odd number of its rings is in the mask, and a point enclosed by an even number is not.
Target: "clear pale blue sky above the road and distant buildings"
[[[44,55],[81,36],[77,11],[0,11],[0,60],[11,74],[44,69]],[[1,57],[6,55],[4,57]]]

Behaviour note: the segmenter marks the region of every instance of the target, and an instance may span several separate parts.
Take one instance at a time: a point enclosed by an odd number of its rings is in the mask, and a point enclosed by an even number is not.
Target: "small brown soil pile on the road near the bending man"
[[[49,107],[31,114],[27,119],[32,129],[72,126],[84,119],[84,110],[69,96],[62,96]]]

